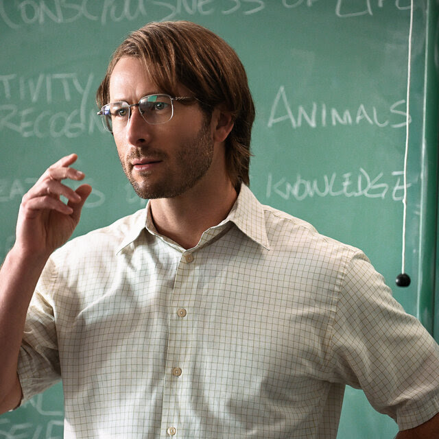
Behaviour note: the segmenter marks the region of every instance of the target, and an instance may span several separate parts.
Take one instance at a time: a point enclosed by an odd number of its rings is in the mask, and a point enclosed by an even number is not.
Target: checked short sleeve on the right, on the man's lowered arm
[[[332,335],[334,379],[361,388],[400,429],[439,412],[439,347],[357,252],[343,279]]]

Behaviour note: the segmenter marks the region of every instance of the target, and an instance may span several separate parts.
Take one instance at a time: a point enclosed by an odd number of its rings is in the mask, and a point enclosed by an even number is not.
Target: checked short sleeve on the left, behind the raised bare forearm
[[[52,279],[51,279],[52,278]],[[54,308],[42,285],[56,281],[54,266],[47,263],[27,311],[18,373],[24,403],[60,380],[60,359]]]

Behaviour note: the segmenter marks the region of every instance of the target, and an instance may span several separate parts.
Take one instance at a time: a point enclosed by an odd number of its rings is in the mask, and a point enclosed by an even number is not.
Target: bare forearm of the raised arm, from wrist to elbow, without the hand
[[[0,269],[1,412],[14,408],[8,399],[16,399],[18,392],[16,369],[27,308],[46,261],[12,248]]]

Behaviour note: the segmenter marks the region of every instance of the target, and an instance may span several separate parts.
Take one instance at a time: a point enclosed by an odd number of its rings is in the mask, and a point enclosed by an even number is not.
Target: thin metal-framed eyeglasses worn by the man
[[[109,132],[117,132],[126,128],[132,115],[132,107],[139,107],[141,117],[150,125],[169,122],[174,116],[174,101],[191,101],[195,97],[169,95],[147,95],[143,96],[137,104],[128,102],[110,102],[104,105],[97,113],[102,116],[104,128]]]

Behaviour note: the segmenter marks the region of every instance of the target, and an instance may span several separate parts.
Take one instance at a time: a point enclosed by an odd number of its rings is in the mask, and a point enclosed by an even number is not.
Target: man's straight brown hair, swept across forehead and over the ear
[[[235,51],[209,29],[189,21],[148,23],[116,49],[100,84],[99,108],[110,99],[110,76],[123,56],[139,58],[163,93],[176,96],[178,84],[198,99],[211,117],[215,106],[230,112],[234,126],[226,139],[226,163],[235,188],[249,185],[254,104],[246,71]]]

